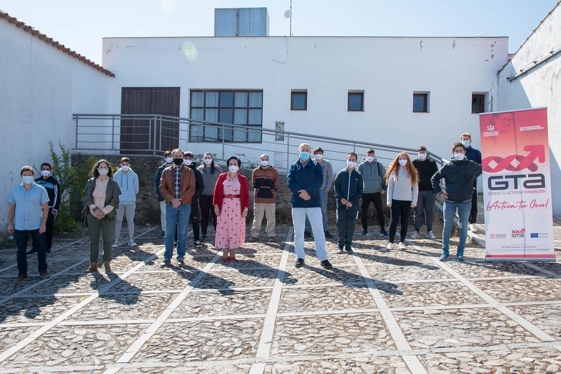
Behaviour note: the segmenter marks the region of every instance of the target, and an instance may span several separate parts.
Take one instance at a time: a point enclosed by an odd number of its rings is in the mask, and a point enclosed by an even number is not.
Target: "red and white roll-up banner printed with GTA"
[[[481,113],[486,261],[555,261],[546,108]]]

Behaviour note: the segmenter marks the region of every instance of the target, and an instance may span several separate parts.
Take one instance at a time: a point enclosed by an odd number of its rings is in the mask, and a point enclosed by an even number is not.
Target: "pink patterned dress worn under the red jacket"
[[[238,176],[234,179],[227,178],[222,186],[224,196],[241,193]],[[236,249],[243,243],[245,243],[245,218],[241,216],[240,198],[224,198],[216,225],[215,248]]]

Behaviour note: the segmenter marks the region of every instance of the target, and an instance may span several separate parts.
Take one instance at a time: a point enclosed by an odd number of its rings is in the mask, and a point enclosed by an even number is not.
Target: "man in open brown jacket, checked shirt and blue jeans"
[[[160,179],[160,193],[165,200],[165,251],[161,266],[171,265],[173,239],[177,225],[177,265],[184,265],[187,225],[191,214],[191,198],[195,193],[195,174],[183,164],[183,151],[172,152],[173,165],[166,167]]]

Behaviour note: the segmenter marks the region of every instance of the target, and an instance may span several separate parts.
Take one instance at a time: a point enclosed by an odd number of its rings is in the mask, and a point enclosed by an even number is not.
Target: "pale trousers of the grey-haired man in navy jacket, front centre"
[[[327,252],[325,251],[325,233],[321,227],[321,209],[320,208],[292,208],[292,223],[294,223],[294,251],[298,258],[304,258],[304,226],[306,225],[306,216],[311,222],[313,230],[313,240],[316,242],[316,252],[318,258],[323,261],[327,260]]]

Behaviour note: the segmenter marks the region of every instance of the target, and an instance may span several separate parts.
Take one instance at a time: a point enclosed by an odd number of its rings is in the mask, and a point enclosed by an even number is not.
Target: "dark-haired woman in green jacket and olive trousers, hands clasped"
[[[86,272],[97,271],[97,256],[100,254],[100,233],[103,235],[103,265],[111,272],[111,239],[115,228],[116,208],[119,207],[119,184],[107,160],[95,162],[92,178],[83,190],[83,202],[88,207],[88,232],[90,233],[90,267]]]

